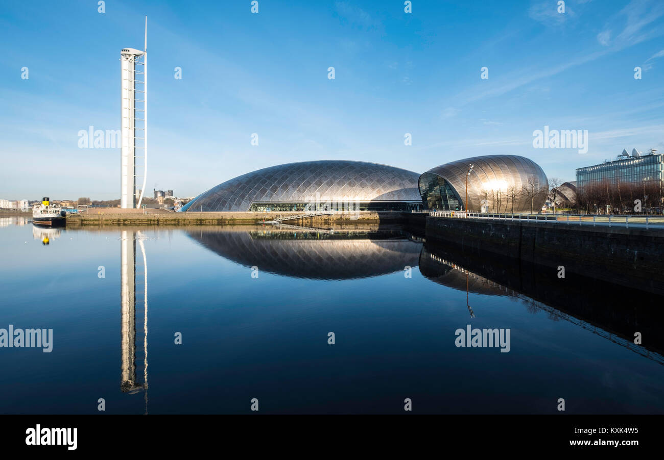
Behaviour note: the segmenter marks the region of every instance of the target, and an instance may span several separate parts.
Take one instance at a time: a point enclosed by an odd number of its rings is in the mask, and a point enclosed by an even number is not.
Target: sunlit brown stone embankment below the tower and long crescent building
[[[301,212],[169,212],[163,209],[90,209],[80,215],[67,217],[68,227],[89,225],[256,225],[280,217],[302,215]],[[320,227],[321,225],[356,225],[368,223],[405,223],[400,212],[359,211],[335,213],[303,219],[291,219],[284,223]]]

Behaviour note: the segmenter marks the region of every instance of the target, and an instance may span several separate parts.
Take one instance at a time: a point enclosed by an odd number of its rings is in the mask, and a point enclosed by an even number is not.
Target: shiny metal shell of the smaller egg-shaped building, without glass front
[[[424,172],[418,184],[422,184],[422,178],[426,174],[436,174],[444,178],[452,188],[457,192],[461,203],[465,203],[465,175],[468,171],[469,164],[474,164],[473,170],[468,176],[468,203],[465,209],[472,211],[479,211],[481,207],[481,200],[484,200],[484,192],[487,193],[487,201],[489,201],[489,211],[511,212],[511,201],[507,200],[508,188],[513,187],[517,194],[515,200],[514,211],[525,212],[530,211],[530,199],[526,199],[523,190],[528,188],[529,180],[537,182],[540,192],[536,194],[533,202],[533,211],[539,211],[540,207],[546,201],[548,195],[548,180],[546,174],[539,164],[535,163],[529,158],[518,155],[487,155],[487,156],[473,156],[471,158],[464,158],[463,160],[456,160],[446,164],[441,164]],[[499,201],[500,209],[494,209],[493,201],[497,200],[491,198],[491,191],[501,190],[503,197]]]

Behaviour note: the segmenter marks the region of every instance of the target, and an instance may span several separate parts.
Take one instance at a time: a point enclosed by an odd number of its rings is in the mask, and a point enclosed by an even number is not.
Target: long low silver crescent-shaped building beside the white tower
[[[227,180],[182,211],[398,211],[422,207],[416,172],[346,160],[280,164]],[[349,205],[350,204],[350,205]]]

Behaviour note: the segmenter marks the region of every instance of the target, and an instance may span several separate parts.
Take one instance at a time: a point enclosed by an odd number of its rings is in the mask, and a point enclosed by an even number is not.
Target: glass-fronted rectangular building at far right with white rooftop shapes
[[[630,155],[627,150],[623,150],[615,160],[578,168],[576,187],[582,189],[602,182],[632,185],[661,183],[664,178],[664,154],[655,153],[656,151],[651,149],[644,155],[634,148]]]

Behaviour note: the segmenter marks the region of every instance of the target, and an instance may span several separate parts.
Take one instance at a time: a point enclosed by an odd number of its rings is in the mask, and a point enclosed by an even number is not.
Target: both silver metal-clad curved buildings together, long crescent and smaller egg
[[[243,174],[203,192],[181,211],[494,211],[498,203],[498,211],[527,212],[531,198],[516,198],[523,190],[535,196],[533,209],[539,209],[548,194],[544,171],[523,156],[465,158],[421,175],[384,164],[321,160]]]

